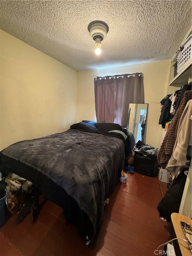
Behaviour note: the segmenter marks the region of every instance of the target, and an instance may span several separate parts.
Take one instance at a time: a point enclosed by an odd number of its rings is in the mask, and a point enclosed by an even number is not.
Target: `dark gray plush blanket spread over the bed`
[[[94,230],[103,218],[104,200],[124,164],[124,142],[116,137],[68,131],[23,140],[2,151],[44,173],[73,197]]]

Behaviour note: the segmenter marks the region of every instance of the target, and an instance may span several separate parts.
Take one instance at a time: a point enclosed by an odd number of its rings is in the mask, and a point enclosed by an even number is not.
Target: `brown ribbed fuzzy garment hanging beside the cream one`
[[[177,137],[177,130],[179,126],[179,120],[182,116],[183,110],[187,104],[187,101],[191,100],[191,91],[184,92],[184,97],[181,101],[181,104],[173,117],[173,121],[171,122],[170,128],[165,134],[164,140],[161,144],[158,153],[158,162],[163,169],[165,169],[171,154],[173,153],[173,147]]]

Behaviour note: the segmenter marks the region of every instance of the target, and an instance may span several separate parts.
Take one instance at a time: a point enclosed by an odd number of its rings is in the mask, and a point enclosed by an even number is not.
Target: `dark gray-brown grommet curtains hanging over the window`
[[[145,103],[143,74],[97,77],[94,82],[97,122],[126,127],[129,103]]]

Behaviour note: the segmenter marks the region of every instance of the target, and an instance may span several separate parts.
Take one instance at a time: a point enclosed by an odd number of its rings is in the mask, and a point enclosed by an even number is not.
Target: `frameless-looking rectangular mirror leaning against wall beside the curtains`
[[[128,113],[128,131],[132,132],[135,142],[138,140],[144,141],[146,132],[146,117],[147,117],[148,104],[129,104]]]

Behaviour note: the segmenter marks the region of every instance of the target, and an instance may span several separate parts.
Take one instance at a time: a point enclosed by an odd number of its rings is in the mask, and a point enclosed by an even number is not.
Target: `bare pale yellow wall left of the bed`
[[[77,72],[0,30],[0,148],[76,122]]]

